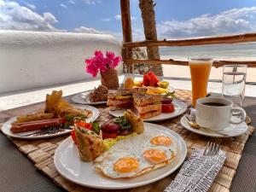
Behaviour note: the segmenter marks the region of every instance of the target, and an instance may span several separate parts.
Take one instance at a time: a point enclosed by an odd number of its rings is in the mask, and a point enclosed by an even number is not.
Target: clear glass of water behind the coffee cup
[[[225,65],[223,67],[222,96],[233,102],[233,107],[242,107],[247,65]]]

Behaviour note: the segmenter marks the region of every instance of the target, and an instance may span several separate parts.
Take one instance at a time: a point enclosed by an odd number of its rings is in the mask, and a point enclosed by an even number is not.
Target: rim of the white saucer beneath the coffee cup
[[[248,131],[248,125],[247,125],[245,122],[242,122],[242,123],[244,123],[244,125],[247,126],[247,129],[246,129],[244,132],[242,132],[242,133],[240,133],[240,134],[237,134],[237,135],[234,135],[234,136],[230,136],[230,135],[224,136],[224,135],[221,135],[221,134],[219,134],[219,135],[213,135],[213,134],[211,134],[211,133],[207,133],[207,132],[203,132],[203,131],[196,131],[196,130],[194,130],[194,129],[188,128],[187,125],[184,125],[184,124],[183,124],[183,121],[184,121],[184,120],[185,120],[185,121],[188,121],[188,119],[186,119],[186,117],[185,117],[186,115],[187,115],[187,114],[184,114],[183,117],[180,119],[180,123],[181,123],[181,125],[183,125],[183,128],[186,129],[186,130],[188,130],[188,131],[191,131],[191,132],[194,132],[194,133],[196,133],[196,134],[199,134],[199,135],[201,135],[201,136],[205,136],[205,137],[215,137],[215,138],[238,137],[238,136],[241,136],[242,134],[244,134],[244,133],[246,133],[246,132]],[[189,125],[189,127],[191,127],[191,126]]]

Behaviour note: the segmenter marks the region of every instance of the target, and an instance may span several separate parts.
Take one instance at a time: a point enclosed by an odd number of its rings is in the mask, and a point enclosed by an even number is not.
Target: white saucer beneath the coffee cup
[[[207,136],[207,137],[237,137],[237,136],[241,136],[248,130],[248,126],[245,122],[242,122],[239,125],[230,124],[230,126],[224,128],[224,130],[219,131],[220,133],[223,133],[225,135],[207,132],[203,130],[197,130],[189,125],[188,119],[186,118],[186,114],[183,115],[182,119],[180,119],[180,122],[185,129],[195,132],[197,134],[200,134],[202,136]]]

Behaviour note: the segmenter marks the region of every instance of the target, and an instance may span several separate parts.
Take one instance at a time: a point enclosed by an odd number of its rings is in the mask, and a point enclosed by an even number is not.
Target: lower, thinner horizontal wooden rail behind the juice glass
[[[188,66],[189,61],[177,61],[177,60],[125,60],[126,63],[150,63],[152,65],[166,64],[166,65],[177,65],[177,66]],[[235,65],[245,64],[247,67],[256,67],[256,61],[213,61],[213,67],[222,67],[224,65]]]

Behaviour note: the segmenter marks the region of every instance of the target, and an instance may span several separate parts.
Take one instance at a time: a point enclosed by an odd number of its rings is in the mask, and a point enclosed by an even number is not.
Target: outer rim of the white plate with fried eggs
[[[67,143],[67,142],[72,142],[71,140],[71,137],[67,137],[59,146],[58,148],[55,149],[55,155],[54,155],[54,164],[55,164],[55,168],[57,170],[57,172],[60,173],[61,177],[65,177],[68,181],[72,182],[72,183],[76,183],[76,184],[79,184],[81,186],[85,186],[85,187],[89,187],[89,188],[92,188],[92,189],[131,189],[131,188],[136,188],[136,187],[140,187],[140,186],[144,186],[146,184],[149,184],[149,183],[154,183],[156,181],[159,181],[160,179],[164,178],[164,177],[167,177],[168,175],[172,174],[173,172],[177,171],[178,167],[182,166],[183,164],[183,161],[185,160],[186,156],[187,156],[187,153],[188,153],[188,148],[187,148],[187,144],[185,143],[185,141],[183,140],[183,137],[181,137],[177,132],[175,131],[172,131],[171,129],[167,128],[166,126],[163,126],[163,125],[157,125],[157,124],[152,124],[152,123],[148,123],[148,122],[144,122],[144,124],[148,124],[148,125],[153,125],[153,126],[158,126],[160,130],[164,130],[164,131],[171,131],[173,135],[176,135],[176,137],[178,138],[178,142],[180,142],[180,146],[182,146],[182,148],[184,148],[184,151],[183,153],[181,153],[181,156],[180,156],[180,160],[178,161],[177,165],[175,165],[173,168],[172,168],[172,172],[165,172],[164,174],[161,174],[160,176],[158,177],[153,177],[152,179],[149,179],[149,180],[146,180],[146,181],[143,181],[143,182],[140,182],[140,183],[129,183],[129,185],[127,186],[119,186],[119,187],[102,187],[101,185],[91,185],[91,184],[84,184],[84,183],[80,183],[80,182],[74,182],[73,180],[71,180],[70,178],[66,177],[64,174],[62,174],[60,171],[59,171],[59,167],[56,163],[56,155],[58,153],[59,150],[61,150],[61,145]],[[150,128],[149,128],[150,129]],[[181,150],[180,150],[181,151]],[[148,172],[150,173],[150,172]]]

